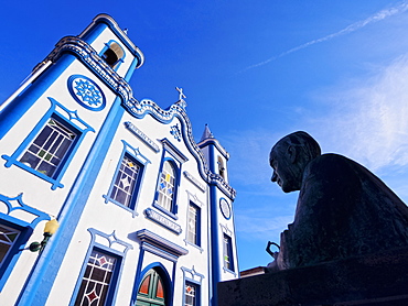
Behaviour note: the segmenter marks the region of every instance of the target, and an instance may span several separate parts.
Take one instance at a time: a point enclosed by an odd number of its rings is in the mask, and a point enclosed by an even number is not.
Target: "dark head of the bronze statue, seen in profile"
[[[299,190],[305,166],[321,155],[319,143],[307,132],[294,132],[279,140],[269,154],[272,182],[284,193]]]

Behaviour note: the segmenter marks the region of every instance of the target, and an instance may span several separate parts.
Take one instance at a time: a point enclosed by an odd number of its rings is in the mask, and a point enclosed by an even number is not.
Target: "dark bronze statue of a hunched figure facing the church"
[[[278,141],[269,162],[272,182],[300,190],[269,272],[408,247],[408,207],[364,166],[322,155],[305,132]]]

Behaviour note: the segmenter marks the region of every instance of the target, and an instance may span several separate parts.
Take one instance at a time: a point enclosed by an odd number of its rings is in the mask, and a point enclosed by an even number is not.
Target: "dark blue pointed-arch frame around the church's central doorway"
[[[140,267],[138,266],[138,269]],[[163,281],[165,305],[172,306],[173,305],[173,292],[174,292],[173,281],[170,278],[169,272],[167,271],[165,266],[160,262],[152,262],[149,265],[147,265],[142,271],[138,270],[138,272],[136,273],[137,277],[135,278],[135,284],[133,284],[131,305],[136,304],[141,282],[143,281],[146,273],[148,273],[151,269],[153,269]]]

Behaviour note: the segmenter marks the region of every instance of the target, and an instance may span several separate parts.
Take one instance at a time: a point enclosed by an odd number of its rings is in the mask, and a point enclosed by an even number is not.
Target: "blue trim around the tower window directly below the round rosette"
[[[46,182],[50,182],[52,184],[51,189],[55,190],[56,188],[64,187],[64,185],[61,183],[61,179],[62,179],[64,173],[66,172],[66,170],[67,170],[72,159],[74,157],[76,151],[78,150],[82,141],[84,140],[85,134],[89,131],[95,132],[95,130],[93,128],[90,128],[90,125],[88,125],[84,120],[82,120],[78,117],[76,110],[75,111],[68,110],[67,108],[65,108],[64,106],[58,103],[53,98],[49,97],[49,100],[51,101],[51,108],[43,116],[43,118],[39,121],[39,123],[36,123],[34,129],[25,138],[25,140],[19,145],[19,147],[15,150],[15,152],[11,156],[1,155],[1,157],[7,161],[7,163],[4,164],[6,167],[10,167],[12,165],[15,165],[15,166],[18,166],[22,170],[25,170],[25,171],[34,174],[35,176],[37,176],[37,177],[40,177],[40,178],[42,178]],[[57,107],[63,109],[68,116],[66,116],[66,114],[64,116],[62,112],[56,111]],[[45,174],[43,174],[43,173],[41,173],[36,170],[33,170],[32,167],[30,167],[30,166],[21,163],[20,161],[18,161],[18,159],[26,151],[29,145],[31,145],[33,143],[36,135],[40,133],[40,131],[43,130],[46,122],[51,118],[54,118],[57,121],[62,122],[64,125],[67,125],[68,129],[72,129],[77,134],[76,139],[71,144],[68,151],[65,153],[64,159],[61,161],[58,167],[56,168],[56,171],[55,171],[55,173],[53,174],[52,177],[50,177],[50,176],[47,176],[47,175],[45,175]],[[82,125],[85,125],[85,129],[79,128],[79,125],[75,124],[74,121],[78,121]]]

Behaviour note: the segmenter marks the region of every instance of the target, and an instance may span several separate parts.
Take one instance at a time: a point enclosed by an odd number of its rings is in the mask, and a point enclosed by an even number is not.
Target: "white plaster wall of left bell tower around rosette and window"
[[[66,84],[67,78],[73,74],[88,76],[99,85],[107,100],[107,105],[104,110],[99,112],[87,110],[72,98]],[[24,204],[44,211],[51,217],[55,217],[62,208],[71,186],[74,183],[116,96],[101,81],[99,81],[99,79],[94,77],[88,69],[75,61],[1,140],[0,155],[6,154],[11,156],[18,146],[23,142],[23,140],[30,134],[35,124],[51,107],[51,102],[47,97],[54,98],[72,111],[76,110],[78,117],[92,125],[95,129],[95,132],[86,133],[84,141],[80,143],[78,151],[75,153],[64,176],[62,177],[61,183],[64,184],[63,188],[56,188],[55,190],[52,190],[51,183],[43,181],[34,174],[15,165],[7,168],[4,167],[6,161],[1,159],[0,194],[8,197],[15,197],[20,193],[23,193],[22,199]],[[40,222],[32,237],[29,239],[26,245],[30,245],[30,243],[33,241],[42,240],[43,228],[44,222]],[[31,266],[34,264],[36,256],[37,253],[31,253],[26,250],[22,252],[14,270],[8,278],[6,287],[3,288],[4,294],[0,296],[0,300],[6,298],[7,303],[11,303],[10,300],[14,300],[14,298],[17,298],[25,282],[25,277],[31,270]],[[0,302],[0,305],[7,304]]]

